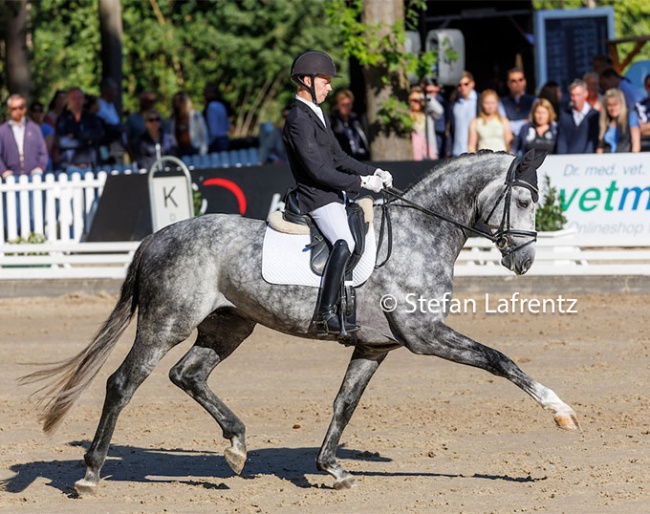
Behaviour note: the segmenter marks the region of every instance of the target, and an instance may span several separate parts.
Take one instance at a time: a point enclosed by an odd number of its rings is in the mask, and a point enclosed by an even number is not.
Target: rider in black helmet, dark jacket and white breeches
[[[319,107],[332,90],[332,77],[338,75],[326,53],[309,50],[296,57],[291,66],[291,79],[298,84],[296,102],[287,115],[282,140],[297,182],[294,191],[300,213],[309,213],[332,245],[321,279],[315,318],[318,334],[344,336],[359,329],[349,323],[341,326],[336,313],[345,268],[355,246],[345,210],[346,193],[358,193],[361,188],[378,193],[384,186],[392,186],[393,177],[341,149],[329,118]]]

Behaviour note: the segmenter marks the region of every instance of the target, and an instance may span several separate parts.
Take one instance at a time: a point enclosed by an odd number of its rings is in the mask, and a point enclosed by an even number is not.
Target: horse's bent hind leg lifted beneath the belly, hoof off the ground
[[[246,339],[255,323],[232,313],[210,315],[198,327],[194,346],[169,372],[171,381],[194,398],[219,423],[230,440],[226,462],[239,474],[246,462],[245,427],[241,420],[208,387],[214,368]]]

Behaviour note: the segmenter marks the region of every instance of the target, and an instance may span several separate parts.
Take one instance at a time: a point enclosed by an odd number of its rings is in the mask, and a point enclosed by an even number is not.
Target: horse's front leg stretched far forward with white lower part
[[[405,346],[416,354],[435,355],[505,377],[532,396],[544,409],[553,412],[557,426],[566,430],[580,429],[578,417],[569,405],[551,389],[526,375],[503,353],[459,334],[442,321],[434,322],[433,331],[428,337],[432,337],[432,340],[405,338]]]

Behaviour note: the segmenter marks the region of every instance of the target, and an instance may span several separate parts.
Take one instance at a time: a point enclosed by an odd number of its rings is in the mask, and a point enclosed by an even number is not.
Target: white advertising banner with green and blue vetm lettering
[[[565,228],[650,244],[650,153],[550,155],[539,169],[562,197]],[[543,194],[543,193],[542,193]]]

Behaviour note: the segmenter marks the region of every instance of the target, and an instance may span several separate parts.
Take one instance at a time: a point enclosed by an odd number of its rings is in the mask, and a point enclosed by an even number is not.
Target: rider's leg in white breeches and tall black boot
[[[337,315],[336,310],[346,266],[354,250],[354,238],[348,225],[345,206],[340,203],[330,203],[309,214],[323,235],[333,245],[321,279],[316,313],[318,332],[321,335],[332,333],[346,335],[346,332],[354,332],[359,327],[349,323],[344,323],[342,327],[341,316]]]

